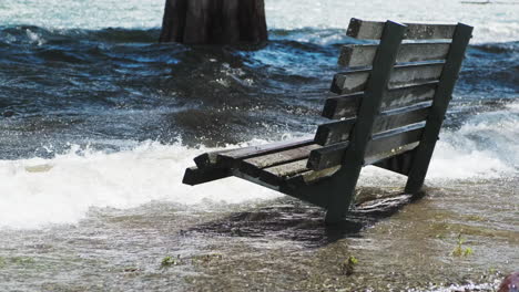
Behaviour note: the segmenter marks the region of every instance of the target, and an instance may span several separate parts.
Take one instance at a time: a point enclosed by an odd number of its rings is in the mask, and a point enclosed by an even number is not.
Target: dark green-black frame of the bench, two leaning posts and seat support
[[[350,30],[358,29],[358,27],[355,27],[358,22],[359,20],[352,20],[348,34]],[[378,38],[380,42],[374,58],[370,76],[363,93],[364,96],[358,107],[355,125],[349,134],[347,147],[344,150],[343,163],[339,167],[330,170],[328,177],[311,185],[301,181],[286,181],[276,186],[240,171],[240,167],[207,167],[187,169],[184,182],[195,185],[227,176],[236,176],[326,208],[327,223],[343,220],[355,197],[355,188],[360,170],[363,166],[367,165],[364,157],[373,138],[372,129],[375,119],[380,114],[383,96],[389,90],[389,79],[396,64],[400,44],[406,36],[409,36],[409,33],[413,33],[413,24],[408,27],[393,21],[387,21],[384,24],[381,36]],[[357,31],[357,33],[363,32]],[[424,185],[471,33],[472,27],[462,23],[455,27],[450,49],[434,94],[432,105],[427,115],[419,145],[413,150],[375,164],[375,166],[407,175],[408,180],[405,188],[407,194],[417,194]],[[211,154],[207,155],[211,156]],[[205,159],[211,159],[211,157],[206,156]]]

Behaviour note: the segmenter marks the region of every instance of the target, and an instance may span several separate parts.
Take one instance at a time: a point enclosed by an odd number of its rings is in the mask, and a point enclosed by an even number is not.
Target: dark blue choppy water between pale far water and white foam
[[[221,146],[311,133],[340,71],[340,45],[354,41],[343,30],[305,29],[273,30],[262,48],[189,46],[157,44],[159,33],[1,27],[0,158],[45,157],[70,144]],[[325,38],[333,41],[313,41]],[[472,45],[447,126],[518,96],[519,42]]]

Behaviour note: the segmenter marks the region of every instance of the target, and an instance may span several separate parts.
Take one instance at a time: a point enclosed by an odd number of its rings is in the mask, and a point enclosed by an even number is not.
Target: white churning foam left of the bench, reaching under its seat
[[[184,169],[206,150],[142,143],[105,154],[73,146],[53,159],[0,160],[0,227],[75,222],[90,207],[125,209],[153,200],[233,204],[279,196],[236,178],[196,188],[183,185]]]

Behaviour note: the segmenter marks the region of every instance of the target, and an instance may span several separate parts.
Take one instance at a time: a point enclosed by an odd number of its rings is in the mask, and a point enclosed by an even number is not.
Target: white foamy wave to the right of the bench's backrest
[[[428,177],[497,178],[519,174],[519,108],[474,116],[438,143]]]

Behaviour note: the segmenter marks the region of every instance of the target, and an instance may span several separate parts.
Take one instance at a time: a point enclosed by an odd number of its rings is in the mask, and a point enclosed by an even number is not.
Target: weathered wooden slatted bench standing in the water
[[[327,209],[340,221],[363,166],[408,177],[420,190],[458,79],[472,28],[352,19],[314,137],[206,153],[194,158],[184,184],[236,176]]]

